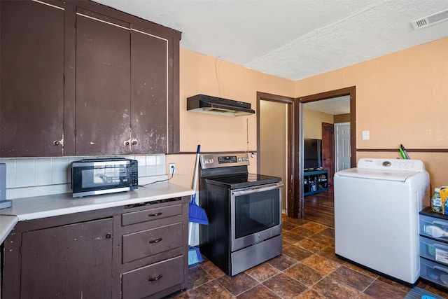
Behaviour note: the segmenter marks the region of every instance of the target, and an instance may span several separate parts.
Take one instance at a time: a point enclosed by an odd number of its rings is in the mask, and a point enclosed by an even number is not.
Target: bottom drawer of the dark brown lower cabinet
[[[123,299],[145,298],[183,283],[183,256],[123,273]]]

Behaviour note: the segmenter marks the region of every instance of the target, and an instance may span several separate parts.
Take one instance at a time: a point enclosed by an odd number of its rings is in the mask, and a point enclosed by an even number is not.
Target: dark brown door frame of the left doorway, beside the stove
[[[265,92],[257,92],[257,111],[260,111],[260,101],[278,102],[288,105],[288,137],[286,138],[288,145],[288,155],[286,157],[286,169],[288,169],[288,175],[286,182],[283,182],[286,190],[286,209],[289,217],[294,217],[299,211],[299,202],[294,200],[299,196],[299,181],[298,172],[299,167],[297,161],[298,153],[298,140],[295,138],[297,132],[299,132],[299,122],[300,119],[297,116],[297,99],[292,97],[283,97],[280,95],[272,95]],[[257,152],[260,153],[260,113],[257,113]],[[257,155],[257,169],[260,169],[261,157]],[[302,186],[303,188],[303,186]],[[297,216],[295,216],[297,218]]]

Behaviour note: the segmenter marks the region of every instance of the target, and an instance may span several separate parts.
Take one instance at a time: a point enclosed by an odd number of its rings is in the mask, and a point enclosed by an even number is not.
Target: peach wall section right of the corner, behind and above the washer
[[[356,86],[356,148],[448,148],[448,38],[305,78],[297,97]],[[370,131],[370,140],[361,132]],[[448,184],[447,153],[409,152],[423,160],[431,187]],[[357,152],[357,158],[398,158]]]

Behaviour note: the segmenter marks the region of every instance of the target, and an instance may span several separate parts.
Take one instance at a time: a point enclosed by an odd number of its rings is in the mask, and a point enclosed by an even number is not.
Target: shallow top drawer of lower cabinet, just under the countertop
[[[172,206],[159,207],[154,209],[144,209],[142,211],[132,211],[121,216],[123,226],[145,221],[156,220],[169,216],[182,214],[182,204],[173,204]]]

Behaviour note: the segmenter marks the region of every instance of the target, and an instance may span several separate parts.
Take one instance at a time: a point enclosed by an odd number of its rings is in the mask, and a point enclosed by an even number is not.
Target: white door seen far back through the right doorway
[[[335,124],[335,172],[350,168],[350,123]]]

